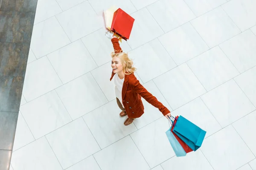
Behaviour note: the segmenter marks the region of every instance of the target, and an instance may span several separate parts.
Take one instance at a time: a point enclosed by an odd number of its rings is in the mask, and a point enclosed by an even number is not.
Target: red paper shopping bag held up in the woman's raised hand
[[[127,41],[130,37],[133,24],[134,18],[121,8],[118,8],[113,15],[111,30],[120,34]]]

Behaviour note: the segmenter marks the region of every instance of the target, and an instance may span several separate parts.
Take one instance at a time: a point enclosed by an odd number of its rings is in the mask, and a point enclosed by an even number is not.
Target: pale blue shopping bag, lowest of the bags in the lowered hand
[[[174,150],[177,157],[186,156],[186,151],[183,149],[183,147],[177,141],[177,139],[173,135],[171,129],[172,129],[172,126],[169,128],[169,130],[166,131],[166,135],[167,135],[167,138],[169,139],[170,144],[172,145],[172,149]]]

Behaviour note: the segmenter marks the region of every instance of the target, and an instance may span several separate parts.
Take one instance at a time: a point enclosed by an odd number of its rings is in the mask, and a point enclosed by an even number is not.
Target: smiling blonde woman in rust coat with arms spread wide
[[[114,79],[116,102],[122,112],[120,116],[128,116],[124,125],[130,125],[135,118],[140,117],[144,113],[144,106],[141,101],[143,97],[148,103],[158,108],[159,111],[166,116],[171,117],[171,112],[157,98],[150,94],[134,75],[136,68],[133,62],[128,58],[128,54],[122,52],[119,46],[119,39],[115,35],[111,39],[114,52],[111,53],[113,68],[110,81]]]

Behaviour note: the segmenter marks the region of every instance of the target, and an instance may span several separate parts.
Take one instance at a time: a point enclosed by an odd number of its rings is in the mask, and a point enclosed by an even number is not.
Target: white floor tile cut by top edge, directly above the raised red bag
[[[97,14],[102,13],[103,10],[107,10],[111,6],[116,6],[121,8],[126,13],[131,14],[137,9],[131,3],[130,0],[88,0],[93,9],[96,11]]]

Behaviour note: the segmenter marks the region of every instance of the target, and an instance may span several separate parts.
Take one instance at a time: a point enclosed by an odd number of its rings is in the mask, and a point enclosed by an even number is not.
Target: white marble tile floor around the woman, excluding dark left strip
[[[121,47],[172,115],[207,131],[176,157],[144,99],[129,126],[102,9],[135,18]],[[11,170],[256,170],[255,0],[38,0]]]

